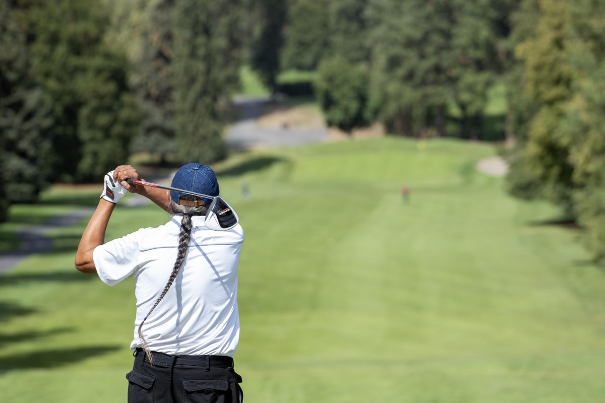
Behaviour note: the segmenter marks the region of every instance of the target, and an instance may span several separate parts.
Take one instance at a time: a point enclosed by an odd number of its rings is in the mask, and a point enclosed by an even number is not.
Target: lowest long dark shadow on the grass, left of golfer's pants
[[[108,354],[119,349],[119,346],[72,347],[1,356],[0,373],[15,370],[56,368],[78,363],[94,356]]]

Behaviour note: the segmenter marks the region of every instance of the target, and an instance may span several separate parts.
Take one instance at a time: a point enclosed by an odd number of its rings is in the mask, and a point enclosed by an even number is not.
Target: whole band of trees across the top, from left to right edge
[[[261,77],[257,94],[313,95],[348,133],[379,122],[506,140],[509,192],[560,206],[604,259],[603,2],[0,0],[0,12],[0,219],[131,152],[220,160],[243,71]]]

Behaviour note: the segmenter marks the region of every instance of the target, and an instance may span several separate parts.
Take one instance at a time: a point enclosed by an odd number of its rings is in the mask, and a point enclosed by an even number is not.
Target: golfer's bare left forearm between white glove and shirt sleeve
[[[93,251],[94,248],[105,242],[105,230],[115,207],[115,204],[100,199],[77,247],[74,263],[79,271],[88,274],[97,272],[93,261]]]

